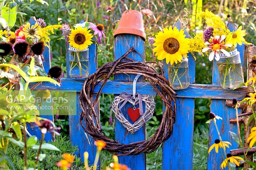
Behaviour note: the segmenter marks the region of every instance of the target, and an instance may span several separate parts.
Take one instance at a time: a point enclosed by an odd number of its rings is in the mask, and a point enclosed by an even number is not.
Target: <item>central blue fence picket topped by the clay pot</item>
[[[132,58],[135,61],[143,61],[145,60],[145,42],[137,35],[132,34],[119,34],[116,36],[114,40],[114,61],[124,55],[131,47],[134,47],[142,56],[139,54],[132,52],[127,57]],[[130,74],[129,76],[125,74],[118,74],[115,76],[115,80],[123,80],[133,82],[133,79],[136,75]],[[141,76],[138,81],[143,81],[144,78]],[[132,91],[124,91],[130,92]],[[116,93],[113,91],[113,93]],[[118,94],[119,95],[119,94]],[[130,104],[126,104],[121,112],[128,119],[127,109],[132,107]],[[129,144],[132,142],[137,142],[146,139],[146,126],[141,127],[135,134],[128,133],[128,131],[123,127],[123,125],[119,121],[115,121],[115,139],[123,144]],[[136,156],[122,156],[119,157],[119,162],[122,164],[126,164],[131,169],[143,170],[146,169],[146,154],[140,154]]]

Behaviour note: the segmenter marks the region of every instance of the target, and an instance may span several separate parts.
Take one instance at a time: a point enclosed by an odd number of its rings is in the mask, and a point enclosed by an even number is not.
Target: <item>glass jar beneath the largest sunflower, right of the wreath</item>
[[[182,58],[177,64],[168,66],[169,82],[173,90],[186,89],[189,86],[188,58]]]

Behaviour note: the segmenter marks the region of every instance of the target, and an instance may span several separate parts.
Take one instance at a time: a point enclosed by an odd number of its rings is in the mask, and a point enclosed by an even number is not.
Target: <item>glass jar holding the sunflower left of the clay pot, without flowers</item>
[[[83,79],[89,76],[89,51],[88,48],[78,50],[69,46],[69,77]]]

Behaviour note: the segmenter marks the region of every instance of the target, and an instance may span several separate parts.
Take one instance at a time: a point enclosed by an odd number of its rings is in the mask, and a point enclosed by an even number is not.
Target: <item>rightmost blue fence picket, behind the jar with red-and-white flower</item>
[[[237,28],[235,27],[234,23],[229,22],[228,23],[228,29],[230,31],[234,31]],[[245,63],[244,61],[244,45],[237,46],[237,50],[240,52],[240,58],[241,62]],[[242,64],[244,68],[244,64]],[[214,60],[213,66],[212,66],[212,84],[220,84],[219,81],[219,73],[217,69],[217,63]],[[245,94],[245,93],[244,93]],[[225,106],[225,100],[211,100],[211,112],[222,117],[223,120],[217,120],[218,129],[220,130],[220,135],[223,141],[229,141],[232,146],[226,150],[227,153],[229,153],[229,150],[231,149],[237,149],[238,144],[232,139],[231,135],[228,131],[235,132],[237,134],[237,127],[236,124],[230,124],[229,119],[236,117],[235,109],[232,107],[226,107]],[[238,109],[238,114],[241,114],[242,110]],[[216,128],[214,126],[214,123],[211,122],[209,125],[209,143],[208,148],[214,144],[214,140],[219,139]],[[207,161],[207,168],[208,169],[220,169],[220,164],[222,163],[223,159],[221,157],[220,152],[211,152],[208,155],[208,161]]]

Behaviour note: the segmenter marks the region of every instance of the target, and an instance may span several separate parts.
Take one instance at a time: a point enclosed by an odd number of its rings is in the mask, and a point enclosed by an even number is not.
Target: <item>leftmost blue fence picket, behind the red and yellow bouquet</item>
[[[36,18],[35,17],[31,17],[28,21],[31,25],[35,25],[36,23]],[[49,47],[50,47],[50,44],[49,44]],[[46,73],[48,73],[49,69],[50,69],[50,49],[48,47],[45,47],[44,48],[44,52],[43,52],[43,56],[44,56],[44,70]],[[49,119],[49,120],[53,120],[52,118],[52,115],[50,115],[49,113],[46,113],[45,112],[46,110],[43,110],[41,113],[44,114],[42,115],[41,117],[43,118],[46,118],[46,119]],[[43,113],[44,112],[44,113]],[[45,115],[46,114],[46,115]],[[34,127],[34,128],[33,128]],[[35,124],[32,123],[32,126],[30,127],[30,125],[28,124],[28,132],[31,134],[31,135],[36,135],[39,139],[41,138],[41,131],[40,129],[38,129],[36,127]],[[45,138],[44,138],[45,141],[51,141],[52,140],[52,135],[51,133],[47,132],[45,134]]]

